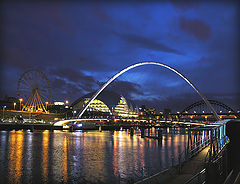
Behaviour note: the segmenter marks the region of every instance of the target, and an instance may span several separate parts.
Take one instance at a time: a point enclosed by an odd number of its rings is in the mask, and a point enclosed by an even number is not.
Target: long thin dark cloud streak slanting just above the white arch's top
[[[135,35],[135,34],[120,34],[120,33],[116,33],[116,32],[114,34],[119,36],[121,39],[123,39],[129,43],[135,44],[141,48],[146,48],[146,49],[156,50],[156,51],[161,51],[161,52],[174,53],[174,54],[178,54],[178,55],[184,55],[183,52],[178,51],[173,48],[170,48],[167,45],[157,42],[154,39],[142,37],[142,36]]]

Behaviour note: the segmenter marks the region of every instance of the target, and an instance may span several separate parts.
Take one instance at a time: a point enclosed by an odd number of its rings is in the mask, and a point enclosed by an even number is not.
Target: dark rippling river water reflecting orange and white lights
[[[0,183],[136,182],[176,164],[186,142],[169,130],[162,140],[127,130],[0,131]]]

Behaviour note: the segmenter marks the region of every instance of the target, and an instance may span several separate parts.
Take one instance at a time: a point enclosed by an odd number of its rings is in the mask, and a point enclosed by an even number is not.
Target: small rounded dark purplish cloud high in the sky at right
[[[211,28],[200,19],[180,18],[179,27],[184,32],[193,35],[200,41],[205,41],[211,37]]]

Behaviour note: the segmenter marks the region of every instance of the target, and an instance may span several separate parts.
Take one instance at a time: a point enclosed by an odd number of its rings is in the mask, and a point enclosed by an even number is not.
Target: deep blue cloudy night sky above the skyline
[[[52,101],[71,103],[131,64],[156,61],[240,110],[238,12],[234,1],[1,4],[1,98],[16,96],[29,69],[47,75]],[[158,110],[200,100],[179,76],[154,65],[128,71],[107,89]]]

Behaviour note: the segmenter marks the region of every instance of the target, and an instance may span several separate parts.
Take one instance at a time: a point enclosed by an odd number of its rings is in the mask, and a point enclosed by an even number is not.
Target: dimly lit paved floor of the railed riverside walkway
[[[209,147],[202,150],[199,154],[185,162],[182,171],[178,173],[178,167],[172,167],[163,172],[157,173],[149,178],[145,178],[136,184],[182,184],[188,181],[195,174],[204,168],[204,161]]]

